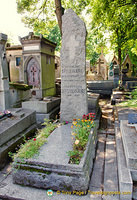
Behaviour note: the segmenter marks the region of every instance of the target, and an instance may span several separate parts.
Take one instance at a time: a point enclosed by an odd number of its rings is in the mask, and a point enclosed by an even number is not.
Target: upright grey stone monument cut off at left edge
[[[9,107],[9,77],[5,53],[7,35],[0,33],[0,110]]]

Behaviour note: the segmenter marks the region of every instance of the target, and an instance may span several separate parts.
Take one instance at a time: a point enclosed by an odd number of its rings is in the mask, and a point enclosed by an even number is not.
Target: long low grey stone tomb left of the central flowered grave
[[[6,164],[8,152],[37,127],[35,111],[26,109],[10,109],[10,111],[13,116],[0,122],[0,168]]]

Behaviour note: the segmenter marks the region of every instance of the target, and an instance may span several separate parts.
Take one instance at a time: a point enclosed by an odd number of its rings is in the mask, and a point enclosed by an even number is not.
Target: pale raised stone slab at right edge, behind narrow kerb
[[[129,169],[137,170],[137,133],[135,128],[129,127],[128,120],[120,121],[120,130],[126,162]]]

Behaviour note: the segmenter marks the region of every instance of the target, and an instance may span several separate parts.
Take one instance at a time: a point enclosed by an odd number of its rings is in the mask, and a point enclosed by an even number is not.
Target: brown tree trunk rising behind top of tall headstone
[[[60,33],[62,35],[62,6],[61,6],[61,0],[55,0],[55,7],[56,7],[56,16],[58,20],[58,25],[60,28]]]

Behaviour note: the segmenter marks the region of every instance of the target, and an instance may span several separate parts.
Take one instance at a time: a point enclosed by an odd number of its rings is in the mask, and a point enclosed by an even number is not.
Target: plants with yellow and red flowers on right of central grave
[[[88,115],[83,115],[82,120],[73,119],[72,122],[72,140],[73,140],[73,150],[67,152],[70,156],[69,163],[79,164],[83,156],[83,153],[88,142],[88,137],[91,128],[95,126],[94,124],[94,114],[89,113]]]

